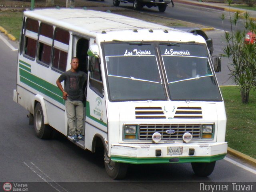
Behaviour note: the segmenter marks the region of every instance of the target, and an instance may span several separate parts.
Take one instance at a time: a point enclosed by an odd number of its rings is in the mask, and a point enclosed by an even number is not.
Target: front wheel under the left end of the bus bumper
[[[111,161],[106,150],[104,150],[104,165],[106,172],[112,179],[123,179],[126,176],[128,165]]]

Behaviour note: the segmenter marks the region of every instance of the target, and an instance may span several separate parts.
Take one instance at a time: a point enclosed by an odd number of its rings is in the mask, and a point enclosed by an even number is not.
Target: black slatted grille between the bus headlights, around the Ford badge
[[[167,130],[174,130],[174,134],[168,134]],[[140,125],[139,139],[152,140],[152,135],[159,132],[162,135],[162,140],[182,140],[184,133],[192,134],[192,140],[200,139],[201,125],[200,124],[164,124],[164,125]]]

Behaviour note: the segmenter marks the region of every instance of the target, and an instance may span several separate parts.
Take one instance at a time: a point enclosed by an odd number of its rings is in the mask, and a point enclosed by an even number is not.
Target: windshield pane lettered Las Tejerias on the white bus
[[[166,100],[151,44],[105,44],[110,100]]]

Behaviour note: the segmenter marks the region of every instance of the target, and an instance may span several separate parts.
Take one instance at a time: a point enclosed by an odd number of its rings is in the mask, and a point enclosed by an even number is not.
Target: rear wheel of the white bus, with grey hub
[[[44,113],[40,103],[36,104],[34,110],[34,129],[38,138],[52,138],[52,128],[49,125],[44,124]]]

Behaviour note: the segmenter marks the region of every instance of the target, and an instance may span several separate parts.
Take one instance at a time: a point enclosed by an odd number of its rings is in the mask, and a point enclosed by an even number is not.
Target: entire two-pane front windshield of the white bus
[[[205,45],[120,42],[102,46],[111,101],[167,100],[167,92],[171,100],[222,100]]]

